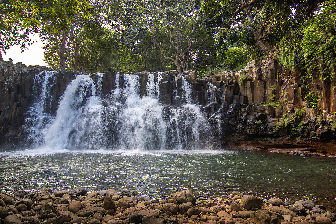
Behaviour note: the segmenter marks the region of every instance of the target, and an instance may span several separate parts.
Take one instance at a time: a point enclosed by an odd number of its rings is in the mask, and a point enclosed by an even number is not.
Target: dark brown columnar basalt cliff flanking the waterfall
[[[15,144],[22,134],[25,114],[34,102],[34,76],[47,67],[0,62],[0,136],[4,144]],[[57,73],[50,94],[50,113],[67,85],[80,73]],[[150,72],[140,72],[140,95],[147,94]],[[227,149],[261,149],[270,151],[311,151],[336,153],[335,81],[312,82],[318,97],[317,108],[304,101],[308,89],[298,73],[287,71],[275,61],[251,61],[245,69],[234,72],[212,72],[202,78],[195,71],[175,70],[154,73],[160,76],[160,102],[170,106],[181,104],[184,82],[192,84],[192,102],[204,108],[213,132]],[[97,85],[98,73],[91,74]],[[115,88],[116,79],[123,87],[124,73],[102,73],[102,98]],[[306,83],[305,83],[306,84]],[[164,110],[165,107],[163,107]]]

